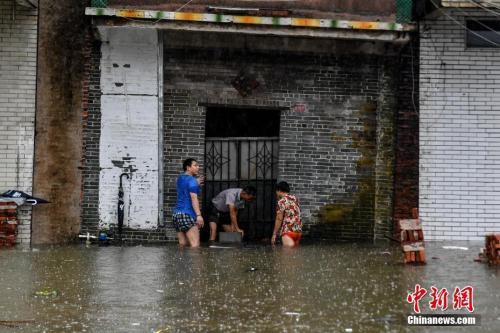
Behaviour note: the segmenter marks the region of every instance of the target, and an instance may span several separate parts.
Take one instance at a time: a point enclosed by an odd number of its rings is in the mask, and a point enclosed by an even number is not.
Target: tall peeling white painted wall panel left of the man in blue
[[[158,38],[154,29],[100,28],[100,227],[117,223],[120,174],[124,225],[158,225]]]

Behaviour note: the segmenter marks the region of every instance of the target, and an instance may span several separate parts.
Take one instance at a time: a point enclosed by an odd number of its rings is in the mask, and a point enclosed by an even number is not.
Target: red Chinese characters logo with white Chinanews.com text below
[[[425,297],[427,295],[427,297]],[[452,303],[449,302],[451,298]],[[415,285],[415,289],[409,292],[406,302],[412,305],[413,313],[408,315],[407,323],[412,326],[476,326],[480,325],[480,316],[472,314],[474,312],[474,288],[465,286],[455,287],[453,294],[446,288],[438,289],[431,286],[430,290],[423,288],[420,284]],[[425,304],[431,312],[421,313],[425,310]],[[455,310],[453,314],[444,314],[447,310]],[[456,313],[463,311],[464,313]]]

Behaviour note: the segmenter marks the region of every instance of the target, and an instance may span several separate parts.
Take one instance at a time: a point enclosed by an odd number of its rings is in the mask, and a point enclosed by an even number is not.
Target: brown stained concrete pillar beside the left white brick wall
[[[81,0],[40,0],[32,244],[65,243],[80,228],[81,106],[87,31]]]

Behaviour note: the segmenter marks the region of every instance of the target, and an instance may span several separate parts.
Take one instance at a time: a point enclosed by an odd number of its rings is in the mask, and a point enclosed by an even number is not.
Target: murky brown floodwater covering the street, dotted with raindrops
[[[425,266],[394,245],[4,249],[0,332],[499,332],[500,268],[473,261],[481,246],[427,243]],[[408,326],[417,283],[448,288],[450,307],[473,286],[481,324]]]

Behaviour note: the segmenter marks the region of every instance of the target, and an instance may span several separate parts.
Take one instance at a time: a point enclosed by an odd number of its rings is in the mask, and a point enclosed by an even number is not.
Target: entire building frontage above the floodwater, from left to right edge
[[[311,237],[390,237],[413,207],[430,240],[498,232],[500,4],[427,1],[416,36],[411,3],[95,0],[85,17],[78,1],[1,0],[0,191],[53,203],[33,225],[21,209],[18,239],[113,228],[121,180],[125,237],[172,240],[186,157],[205,210],[257,187],[254,239],[279,180]]]

